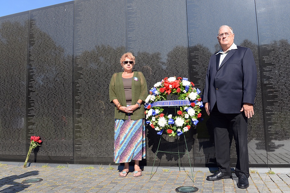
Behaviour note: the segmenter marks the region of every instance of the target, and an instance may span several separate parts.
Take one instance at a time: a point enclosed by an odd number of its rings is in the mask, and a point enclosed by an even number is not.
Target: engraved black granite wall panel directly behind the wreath
[[[148,90],[165,77],[189,78],[186,26],[185,1],[169,0],[166,3],[153,0],[127,1],[127,49],[136,56],[133,70],[143,72]],[[186,136],[187,145],[192,149],[192,135]],[[147,127],[147,165],[153,165],[159,139],[160,136],[156,131]],[[163,140],[162,146],[169,147],[168,151],[174,151],[176,141],[173,141],[173,138],[167,137]],[[192,159],[193,152],[189,153]],[[176,159],[172,159],[170,154],[160,156],[158,156],[160,165],[176,164]],[[188,157],[182,158],[182,162],[185,163],[183,166],[189,166]]]

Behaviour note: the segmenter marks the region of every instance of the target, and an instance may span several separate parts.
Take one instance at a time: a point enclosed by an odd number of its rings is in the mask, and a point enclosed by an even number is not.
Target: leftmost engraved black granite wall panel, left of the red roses
[[[0,17],[0,157],[26,157],[26,82],[29,11]]]

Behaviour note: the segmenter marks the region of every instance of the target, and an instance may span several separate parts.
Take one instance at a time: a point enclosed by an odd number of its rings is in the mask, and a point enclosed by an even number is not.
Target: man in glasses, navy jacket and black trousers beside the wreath
[[[233,29],[221,26],[218,31],[221,50],[211,56],[205,80],[203,103],[211,116],[214,146],[219,171],[207,180],[232,178],[230,170],[229,129],[232,126],[237,150],[235,174],[238,187],[249,187],[247,119],[254,115],[257,70],[249,48],[234,44]]]

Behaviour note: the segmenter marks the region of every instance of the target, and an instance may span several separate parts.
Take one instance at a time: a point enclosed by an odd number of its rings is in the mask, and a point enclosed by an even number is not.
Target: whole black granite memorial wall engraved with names
[[[108,83],[124,52],[136,56],[148,89],[162,78],[188,77],[200,90],[209,57],[220,49],[221,25],[252,49],[258,71],[249,120],[252,167],[290,166],[290,3],[287,0],[75,0],[0,17],[0,161],[24,161],[30,136],[43,140],[31,162],[114,164],[114,107]],[[215,166],[209,117],[187,132],[190,161]],[[147,128],[152,166],[159,135]],[[179,150],[185,151],[183,136]],[[161,150],[176,151],[163,135]],[[160,149],[159,149],[160,150]],[[182,166],[189,166],[181,156]],[[231,146],[235,165],[235,144]],[[159,166],[178,157],[158,153]]]

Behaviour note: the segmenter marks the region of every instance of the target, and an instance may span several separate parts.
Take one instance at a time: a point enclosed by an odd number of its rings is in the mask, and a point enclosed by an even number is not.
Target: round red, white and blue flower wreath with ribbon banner
[[[146,123],[155,129],[157,134],[162,134],[163,130],[169,136],[180,135],[191,128],[192,123],[196,125],[198,118],[201,117],[201,102],[200,90],[195,89],[194,84],[189,82],[187,78],[166,77],[161,82],[154,84],[154,88],[150,90],[150,95],[145,100]],[[178,102],[182,102],[180,110],[176,112],[176,116],[165,115],[158,101],[166,100],[170,94],[178,96]],[[173,103],[175,101],[172,101]],[[162,102],[161,102],[162,103]]]

